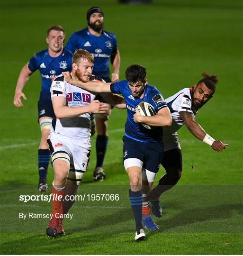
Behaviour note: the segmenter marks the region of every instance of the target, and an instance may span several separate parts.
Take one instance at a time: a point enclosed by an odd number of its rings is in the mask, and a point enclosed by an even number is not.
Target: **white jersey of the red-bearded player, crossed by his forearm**
[[[64,81],[63,75],[55,78],[50,91],[52,98],[65,97],[67,106],[71,108],[87,106],[96,96],[93,92],[91,93]],[[54,132],[72,140],[86,140],[91,136],[90,131],[90,113],[73,118],[54,118],[51,128],[51,133]]]

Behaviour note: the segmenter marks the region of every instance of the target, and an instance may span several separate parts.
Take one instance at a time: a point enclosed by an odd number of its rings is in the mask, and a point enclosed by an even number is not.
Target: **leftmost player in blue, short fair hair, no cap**
[[[63,49],[65,30],[59,25],[54,25],[47,30],[46,43],[48,49],[34,54],[30,61],[22,68],[14,95],[14,105],[18,108],[23,107],[21,98],[27,100],[23,89],[29,77],[37,69],[41,74],[42,87],[38,101],[38,122],[41,129],[41,142],[38,149],[38,167],[40,192],[46,192],[47,169],[50,161],[50,150],[47,144],[47,137],[52,127],[54,110],[51,101],[50,87],[52,80],[63,71],[72,70],[72,53]]]

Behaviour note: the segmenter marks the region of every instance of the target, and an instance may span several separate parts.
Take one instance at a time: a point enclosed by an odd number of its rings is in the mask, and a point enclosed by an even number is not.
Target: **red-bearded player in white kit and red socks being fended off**
[[[93,66],[93,55],[79,49],[72,58],[71,75],[82,82],[88,82],[90,79],[98,81],[99,78],[91,76]],[[56,197],[53,200],[53,218],[46,228],[46,234],[56,237],[58,234],[65,235],[62,216],[72,207],[75,200],[71,201],[69,198],[76,195],[89,162],[90,113],[105,113],[108,107],[94,100],[96,93],[69,84],[63,75],[55,78],[50,91],[55,117],[47,142],[52,153],[52,192]],[[121,96],[109,93],[103,97],[118,108],[126,108]],[[61,201],[58,196],[62,198]]]

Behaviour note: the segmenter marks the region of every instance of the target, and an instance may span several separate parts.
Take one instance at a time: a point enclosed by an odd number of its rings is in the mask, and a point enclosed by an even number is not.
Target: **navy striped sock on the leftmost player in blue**
[[[39,183],[46,182],[50,157],[51,154],[49,149],[38,149]]]

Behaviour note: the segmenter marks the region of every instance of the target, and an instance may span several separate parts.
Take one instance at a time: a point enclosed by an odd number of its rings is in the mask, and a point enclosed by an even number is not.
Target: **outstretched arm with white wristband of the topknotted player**
[[[206,131],[196,122],[195,116],[192,113],[180,111],[179,114],[189,131],[195,137],[210,145],[215,151],[222,151],[225,149],[225,146],[228,146],[228,144],[220,140],[215,140],[209,136]]]

